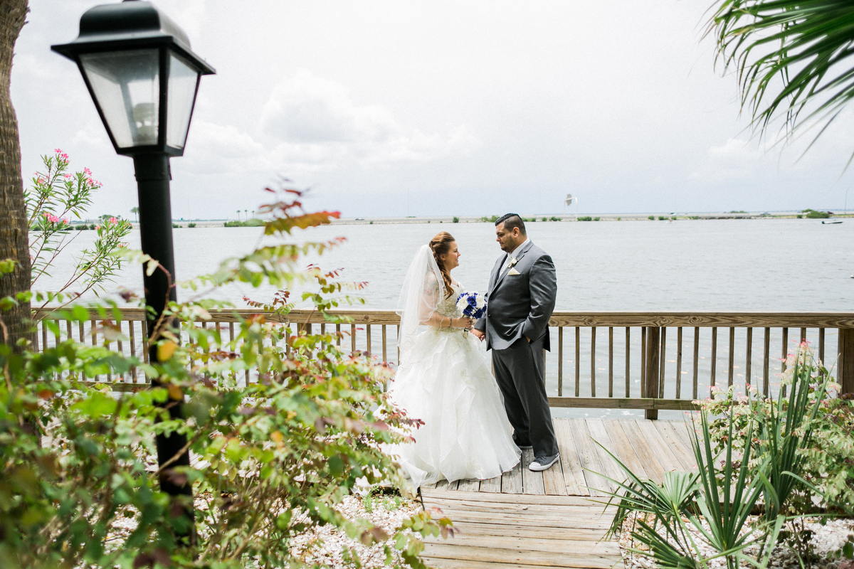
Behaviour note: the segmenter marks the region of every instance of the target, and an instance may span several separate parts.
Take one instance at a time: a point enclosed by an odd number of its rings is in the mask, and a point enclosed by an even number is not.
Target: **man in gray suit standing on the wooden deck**
[[[521,449],[534,449],[529,469],[546,470],[558,462],[558,441],[543,374],[543,349],[548,350],[548,319],[554,310],[558,283],[554,264],[525,231],[515,213],[495,222],[501,255],[489,276],[486,314],[471,333],[486,338],[492,350],[495,380],[504,395],[507,418]]]

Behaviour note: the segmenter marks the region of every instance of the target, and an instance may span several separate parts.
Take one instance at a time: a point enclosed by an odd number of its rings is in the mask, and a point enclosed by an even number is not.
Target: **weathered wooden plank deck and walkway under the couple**
[[[623,479],[598,441],[642,477],[695,467],[686,425],[676,421],[555,419],[560,462],[532,473],[534,459],[503,476],[422,487],[424,508],[438,508],[459,530],[425,543],[428,566],[523,569],[622,566],[617,543],[605,541],[613,508],[605,491],[615,486],[595,473]]]

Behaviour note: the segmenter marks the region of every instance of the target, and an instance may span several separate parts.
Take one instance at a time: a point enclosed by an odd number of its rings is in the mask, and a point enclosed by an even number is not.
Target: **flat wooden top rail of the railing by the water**
[[[47,307],[50,318],[56,308]],[[100,318],[89,311],[91,318]],[[121,309],[125,320],[145,318],[141,308]],[[356,324],[396,325],[400,317],[393,310],[350,308],[329,311],[336,316],[349,316]],[[254,314],[264,314],[273,322],[326,322],[323,315],[310,309],[295,309],[287,315],[246,308],[211,311],[213,322],[238,322]],[[720,327],[720,328],[854,328],[854,312],[775,312],[775,311],[554,311],[550,326],[563,327]]]

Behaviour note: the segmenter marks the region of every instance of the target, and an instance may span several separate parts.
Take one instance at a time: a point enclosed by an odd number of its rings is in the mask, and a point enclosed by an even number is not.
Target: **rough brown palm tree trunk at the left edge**
[[[12,55],[28,11],[27,0],[0,0],[0,260],[16,261],[13,272],[0,275],[0,299],[30,289],[30,247],[20,175],[18,119],[9,96]],[[5,330],[0,327],[0,340],[14,346],[17,340],[26,338],[30,316],[29,302],[0,313],[5,324]]]

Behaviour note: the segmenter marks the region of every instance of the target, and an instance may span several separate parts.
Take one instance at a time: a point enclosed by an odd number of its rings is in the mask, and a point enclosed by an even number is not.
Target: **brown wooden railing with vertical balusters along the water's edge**
[[[196,326],[218,327],[224,340],[235,334],[235,323],[257,311],[213,313]],[[339,345],[365,351],[389,362],[399,361],[394,311],[336,311],[352,323],[330,324],[316,311],[296,310],[287,316],[267,313],[272,322],[291,323],[307,331],[341,333]],[[91,344],[106,341],[98,317],[91,322],[57,322],[60,338]],[[53,318],[54,316],[48,315]],[[147,355],[142,310],[122,311],[120,326],[129,341],[108,342],[129,355]],[[549,322],[552,351],[546,355],[546,386],[553,407],[645,409],[657,418],[659,409],[692,409],[714,386],[755,386],[775,393],[785,370],[787,353],[801,340],[810,341],[816,356],[843,392],[854,392],[854,312],[569,312],[556,311]],[[56,338],[44,325],[39,345]],[[121,378],[105,376],[116,389],[144,385],[138,371]],[[246,380],[252,380],[247,372]]]

